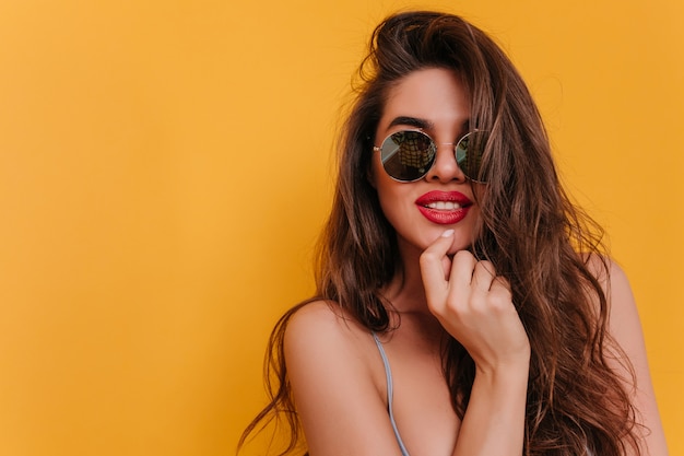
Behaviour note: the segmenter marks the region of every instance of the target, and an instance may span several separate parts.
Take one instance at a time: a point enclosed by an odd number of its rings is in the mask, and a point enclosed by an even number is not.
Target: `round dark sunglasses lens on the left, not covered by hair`
[[[398,131],[387,137],[380,148],[382,166],[397,180],[417,180],[435,161],[436,147],[420,131]]]

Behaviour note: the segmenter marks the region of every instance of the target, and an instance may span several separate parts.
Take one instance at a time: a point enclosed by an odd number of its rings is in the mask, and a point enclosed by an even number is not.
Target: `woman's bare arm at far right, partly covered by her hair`
[[[617,361],[612,361],[613,369],[627,382],[627,390],[634,391],[634,406],[638,411],[637,421],[644,426],[637,430],[641,436],[641,453],[642,455],[667,456],[668,445],[648,369],[639,314],[627,277],[615,264],[611,264],[610,287],[606,292],[611,309],[609,331],[634,367],[636,385],[632,385],[632,375],[625,366]]]

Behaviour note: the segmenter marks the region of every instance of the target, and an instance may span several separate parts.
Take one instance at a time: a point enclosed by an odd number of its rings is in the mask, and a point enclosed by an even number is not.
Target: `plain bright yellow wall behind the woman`
[[[267,336],[311,292],[351,74],[403,7],[519,66],[684,455],[680,0],[3,0],[0,455],[233,454]]]

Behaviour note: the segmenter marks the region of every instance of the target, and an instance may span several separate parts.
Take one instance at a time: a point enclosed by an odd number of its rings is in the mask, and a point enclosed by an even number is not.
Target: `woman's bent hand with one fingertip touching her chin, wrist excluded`
[[[480,372],[527,369],[530,342],[512,304],[510,284],[490,261],[467,250],[452,259],[447,252],[453,231],[446,231],[421,256],[421,272],[431,312],[472,356]]]

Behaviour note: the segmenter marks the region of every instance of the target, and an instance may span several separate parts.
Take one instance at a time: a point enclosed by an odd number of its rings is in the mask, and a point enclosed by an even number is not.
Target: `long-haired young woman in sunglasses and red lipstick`
[[[627,279],[504,52],[401,13],[361,74],[318,291],[244,439],[279,416],[312,456],[667,455]]]

